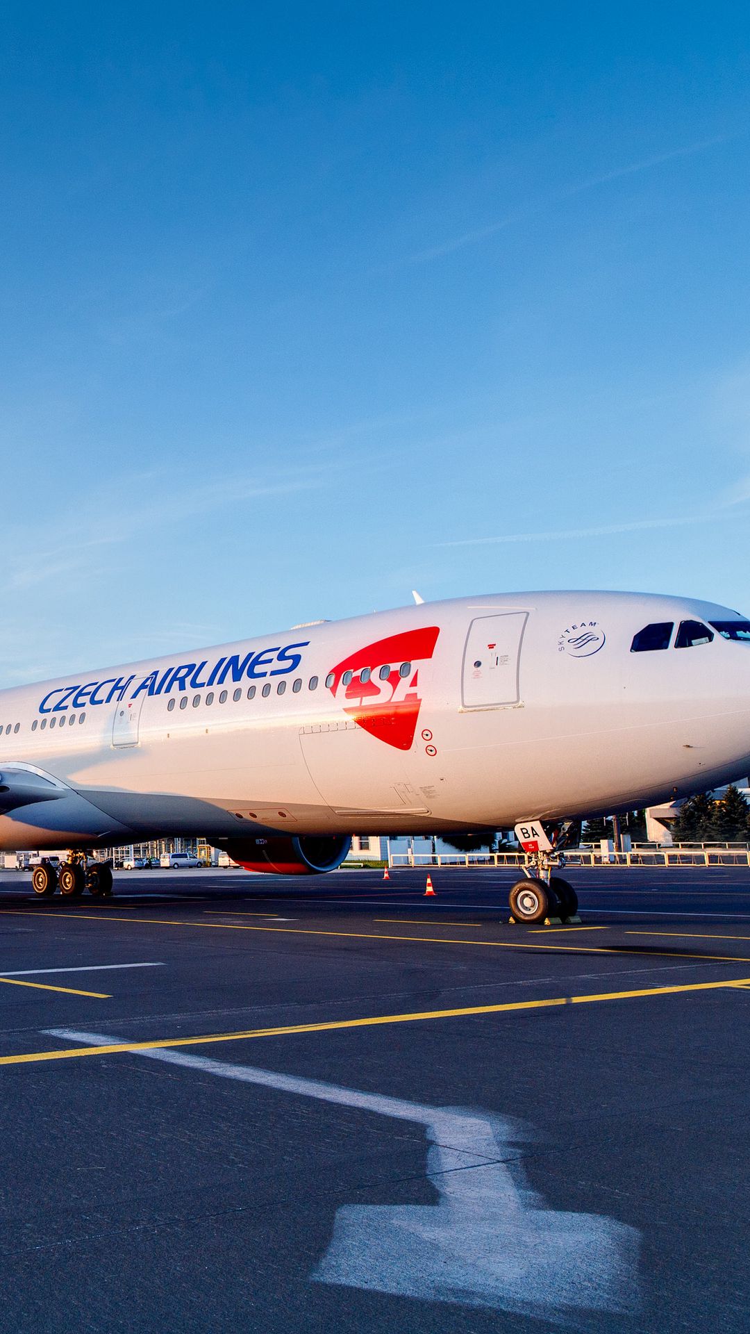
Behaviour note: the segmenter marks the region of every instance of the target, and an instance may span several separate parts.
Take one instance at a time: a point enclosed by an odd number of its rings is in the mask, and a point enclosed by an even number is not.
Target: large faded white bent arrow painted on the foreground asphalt
[[[73,1029],[47,1033],[81,1046],[127,1041]],[[181,1051],[133,1055],[424,1126],[427,1177],[439,1203],[338,1209],[328,1250],[310,1275],[318,1283],[560,1318],[573,1329],[589,1329],[581,1323],[582,1311],[633,1314],[639,1306],[639,1233],[599,1214],[546,1209],[528,1190],[518,1149],[511,1147],[518,1131],[500,1117]]]

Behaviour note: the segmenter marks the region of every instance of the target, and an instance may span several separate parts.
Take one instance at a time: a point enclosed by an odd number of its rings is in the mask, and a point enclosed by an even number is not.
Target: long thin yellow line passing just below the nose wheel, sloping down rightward
[[[15,914],[16,916],[53,916],[61,920],[59,912],[49,912],[43,908],[1,908],[0,915]],[[320,935],[336,936],[347,940],[410,940],[414,944],[472,944],[486,950],[559,950],[566,954],[637,954],[643,956],[643,950],[622,950],[614,944],[522,944],[520,940],[456,940],[451,936],[439,935],[386,935],[384,931],[318,931],[312,927],[300,926],[240,926],[239,922],[175,922],[173,918],[116,918],[107,912],[65,912],[64,920],[80,919],[81,922],[136,922],[141,926],[179,926],[198,927],[200,931],[266,931],[274,935]],[[472,930],[472,927],[467,927]],[[686,950],[649,950],[647,958],[657,959],[661,955],[670,959],[707,959],[719,963],[750,963],[750,958],[737,954],[689,954]]]

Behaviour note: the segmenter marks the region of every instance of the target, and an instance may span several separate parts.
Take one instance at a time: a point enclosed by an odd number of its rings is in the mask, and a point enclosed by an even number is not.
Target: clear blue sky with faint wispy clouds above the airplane
[[[410,600],[750,612],[743,5],[8,4],[0,683]]]

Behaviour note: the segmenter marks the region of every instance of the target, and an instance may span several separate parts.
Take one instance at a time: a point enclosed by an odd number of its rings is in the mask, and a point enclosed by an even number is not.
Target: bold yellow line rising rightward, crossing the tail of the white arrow
[[[161,1047],[198,1047],[215,1042],[246,1042],[251,1038],[280,1038],[299,1033],[330,1033],[335,1029],[372,1029],[390,1023],[420,1023],[424,1019],[459,1019],[478,1014],[510,1014],[519,1010],[551,1010],[566,1005],[590,1005],[598,1000],[630,1000],[643,996],[667,996],[683,991],[715,991],[750,986],[750,978],[734,982],[687,982],[673,987],[645,987],[638,991],[602,991],[597,995],[548,996],[543,1000],[507,1000],[503,1005],[467,1006],[458,1010],[422,1010],[412,1014],[379,1014],[370,1019],[330,1019],[323,1023],[294,1023],[276,1029],[243,1029],[239,1033],[211,1033],[195,1038],[157,1038],[151,1042],[116,1042],[103,1047],[61,1047],[57,1051],[27,1051],[0,1057],[0,1066],[23,1066],[40,1061],[68,1061],[73,1057],[108,1057],[121,1051],[156,1051]]]

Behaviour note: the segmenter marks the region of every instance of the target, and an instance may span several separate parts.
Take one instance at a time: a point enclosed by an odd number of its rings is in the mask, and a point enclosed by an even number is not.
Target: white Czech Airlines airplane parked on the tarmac
[[[458,598],[0,691],[0,848],[49,896],[93,850],[206,838],[252,871],[339,867],[351,834],[515,827],[515,920],[574,915],[575,822],[750,768],[750,622],[629,592]]]

